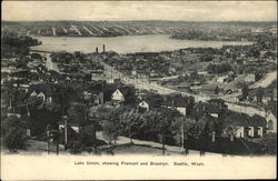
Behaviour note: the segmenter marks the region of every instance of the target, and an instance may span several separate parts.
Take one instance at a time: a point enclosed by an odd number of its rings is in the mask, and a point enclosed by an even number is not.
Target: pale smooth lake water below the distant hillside
[[[221,48],[224,44],[238,46],[251,44],[252,42],[241,41],[199,41],[199,40],[176,40],[167,34],[151,36],[122,36],[122,37],[33,37],[42,41],[41,46],[32,47],[32,50],[44,51],[81,51],[85,53],[95,52],[98,47],[102,51],[102,44],[106,44],[106,51],[116,51],[118,53],[132,52],[158,52],[178,50],[181,48]]]

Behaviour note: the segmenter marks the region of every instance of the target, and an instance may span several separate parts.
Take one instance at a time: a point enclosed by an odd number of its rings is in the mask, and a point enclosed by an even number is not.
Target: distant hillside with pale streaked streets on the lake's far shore
[[[212,34],[216,39],[221,36],[229,40],[229,34],[250,34],[265,32],[276,27],[276,22],[247,22],[247,21],[2,21],[2,31],[14,31],[22,36],[41,37],[117,37],[141,34],[171,34],[172,38],[183,39],[190,37],[188,32],[205,37]],[[262,29],[262,30],[261,30]],[[186,34],[185,34],[186,33]],[[205,33],[205,36],[203,36]],[[207,34],[206,34],[207,33]],[[231,36],[230,36],[231,37]]]

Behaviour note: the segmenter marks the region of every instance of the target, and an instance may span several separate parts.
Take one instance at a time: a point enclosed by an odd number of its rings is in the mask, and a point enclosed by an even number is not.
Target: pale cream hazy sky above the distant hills
[[[276,21],[276,1],[4,1],[2,20]]]

